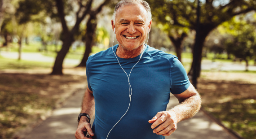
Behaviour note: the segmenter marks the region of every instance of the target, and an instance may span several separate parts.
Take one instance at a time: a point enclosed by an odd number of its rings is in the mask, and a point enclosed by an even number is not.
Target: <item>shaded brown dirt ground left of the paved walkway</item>
[[[86,87],[84,75],[16,72],[20,73],[0,74],[0,139],[11,138],[15,131],[27,125],[37,126],[72,93]]]

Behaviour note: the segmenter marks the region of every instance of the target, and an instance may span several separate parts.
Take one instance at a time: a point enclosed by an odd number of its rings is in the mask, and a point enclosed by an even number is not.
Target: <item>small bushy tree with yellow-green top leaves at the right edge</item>
[[[248,61],[256,57],[255,24],[255,21],[250,22],[240,16],[224,22],[218,28],[222,34],[231,36],[225,41],[226,50],[246,62],[246,71],[248,71]]]

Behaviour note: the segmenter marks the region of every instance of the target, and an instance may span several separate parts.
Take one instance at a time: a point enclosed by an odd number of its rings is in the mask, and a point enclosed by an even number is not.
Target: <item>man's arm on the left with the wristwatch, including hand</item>
[[[84,100],[82,103],[82,110],[81,113],[87,113],[90,117],[93,117],[95,113],[95,107],[94,107],[94,96],[93,91],[90,91],[90,89],[87,87],[85,93],[84,93]],[[77,130],[75,132],[75,139],[89,139],[92,138],[93,130],[91,128],[91,124],[88,123],[89,120],[87,117],[82,116],[79,123]],[[91,136],[89,138],[86,138],[86,132],[88,132]]]

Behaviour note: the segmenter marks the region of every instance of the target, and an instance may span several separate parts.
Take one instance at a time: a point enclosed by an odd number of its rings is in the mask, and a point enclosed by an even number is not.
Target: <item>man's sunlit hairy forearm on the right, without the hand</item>
[[[201,98],[197,93],[194,96],[190,96],[189,98],[181,101],[180,104],[170,109],[169,112],[175,113],[177,122],[181,122],[193,117],[199,111],[200,107]]]

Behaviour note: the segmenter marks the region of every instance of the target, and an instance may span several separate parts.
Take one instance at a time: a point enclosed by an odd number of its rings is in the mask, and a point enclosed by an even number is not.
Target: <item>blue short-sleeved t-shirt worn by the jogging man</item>
[[[114,52],[118,44],[113,46]],[[165,111],[172,94],[180,94],[189,86],[186,71],[177,57],[146,45],[134,58],[118,57],[125,72],[130,75],[132,99],[129,105],[128,77],[120,67],[112,48],[91,55],[86,63],[88,88],[95,100],[94,139],[165,139],[156,135],[148,121]]]

